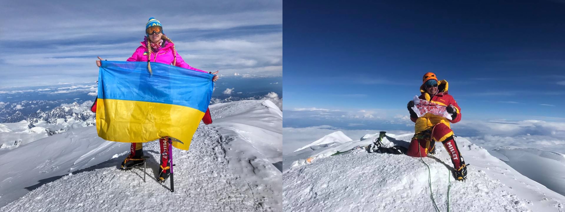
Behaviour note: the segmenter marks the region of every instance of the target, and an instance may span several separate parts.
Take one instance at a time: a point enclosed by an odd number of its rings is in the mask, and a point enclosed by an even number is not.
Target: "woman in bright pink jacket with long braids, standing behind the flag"
[[[164,63],[164,64],[171,64],[173,66],[186,68],[193,71],[205,72],[205,73],[212,73],[199,70],[198,68],[194,68],[189,66],[177,53],[175,49],[175,44],[171,41],[170,38],[163,34],[163,26],[161,23],[151,17],[147,24],[145,25],[145,39],[141,42],[141,46],[137,47],[136,51],[133,53],[132,57],[129,57],[127,61],[129,62],[147,62],[147,69],[151,72],[151,62],[157,63]],[[101,66],[100,60],[102,58],[98,57],[99,60],[96,60],[96,65],[98,67]],[[216,74],[218,71],[212,73]],[[218,76],[214,76],[212,81],[218,80]],[[207,113],[209,114],[209,113]],[[206,116],[205,116],[206,117]],[[209,115],[207,116],[209,117]],[[210,120],[211,121],[211,120]],[[161,164],[159,167],[159,180],[164,181],[170,175],[170,165],[168,164],[168,151],[167,151],[167,140],[166,139],[159,139],[161,142],[160,152],[161,152]],[[142,158],[143,156],[143,143],[132,143],[130,154],[121,162],[121,168],[123,169],[131,169],[134,166],[141,166],[145,163],[145,159]]]

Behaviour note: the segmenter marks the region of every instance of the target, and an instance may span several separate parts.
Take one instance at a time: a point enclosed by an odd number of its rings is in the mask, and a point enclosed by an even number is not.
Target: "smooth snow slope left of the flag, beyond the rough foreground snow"
[[[96,127],[83,127],[0,154],[0,206],[46,179],[97,165],[128,150],[129,144],[99,138]]]

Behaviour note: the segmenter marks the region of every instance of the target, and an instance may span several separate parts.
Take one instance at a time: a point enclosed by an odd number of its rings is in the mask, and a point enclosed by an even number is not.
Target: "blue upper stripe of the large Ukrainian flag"
[[[166,103],[206,112],[214,82],[209,73],[162,63],[102,61],[98,98]]]

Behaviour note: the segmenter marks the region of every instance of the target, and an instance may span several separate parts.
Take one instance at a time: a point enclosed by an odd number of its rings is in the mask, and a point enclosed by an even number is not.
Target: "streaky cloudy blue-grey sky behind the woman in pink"
[[[0,88],[95,81],[97,56],[130,57],[151,16],[193,67],[224,77],[282,76],[280,1],[8,1],[2,8]]]

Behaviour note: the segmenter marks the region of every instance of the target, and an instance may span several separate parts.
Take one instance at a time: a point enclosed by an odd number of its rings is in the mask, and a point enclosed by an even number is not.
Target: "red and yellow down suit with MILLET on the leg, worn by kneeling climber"
[[[438,93],[433,97],[425,92],[424,85],[420,86],[420,99],[431,101],[444,106],[453,105],[457,109],[457,117],[453,120],[446,119],[442,116],[425,114],[419,118],[410,118],[412,122],[416,123],[414,126],[415,135],[408,146],[407,155],[412,157],[426,157],[429,152],[432,152],[435,147],[435,142],[442,142],[447,153],[451,156],[451,162],[455,170],[461,167],[461,154],[453,139],[453,131],[450,128],[450,123],[457,123],[461,120],[461,109],[455,99],[447,93],[449,84],[446,80],[438,81]],[[433,140],[433,142],[432,142]]]

